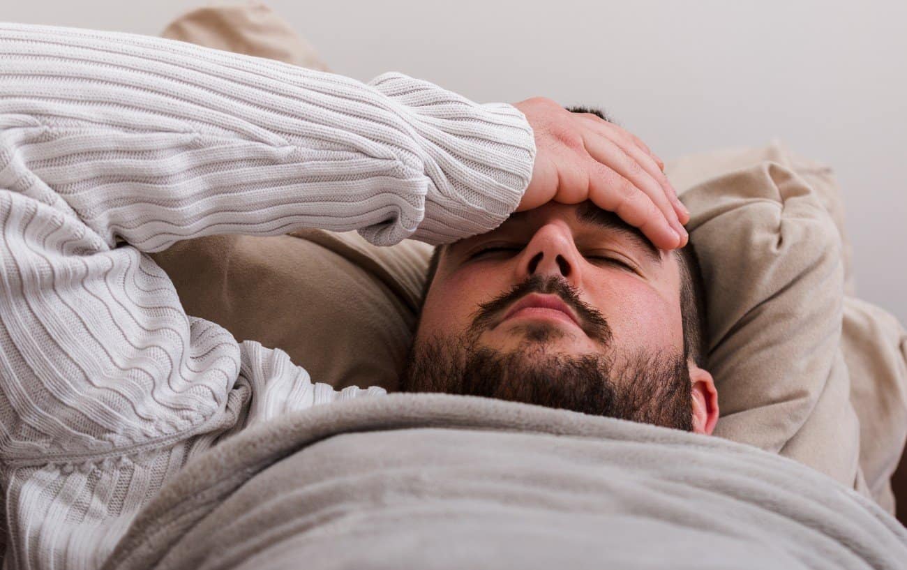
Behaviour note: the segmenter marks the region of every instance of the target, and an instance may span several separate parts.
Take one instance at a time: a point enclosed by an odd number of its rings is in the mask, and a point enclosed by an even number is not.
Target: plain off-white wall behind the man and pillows
[[[663,158],[773,137],[830,164],[861,297],[907,323],[907,2],[269,0],[333,70],[477,101],[602,106]],[[159,34],[189,0],[3,0],[0,19]]]

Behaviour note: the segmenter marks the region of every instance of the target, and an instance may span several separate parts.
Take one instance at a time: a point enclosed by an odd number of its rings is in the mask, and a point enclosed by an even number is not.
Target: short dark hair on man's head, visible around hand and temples
[[[600,109],[589,107],[567,107],[571,113],[592,113],[609,123],[614,121]],[[444,246],[434,248],[432,259],[428,262],[428,272],[422,289],[422,299],[419,301],[419,313],[428,290],[432,287],[434,274],[438,270],[438,261]],[[699,257],[692,241],[683,248],[674,251],[680,270],[680,316],[683,322],[683,348],[684,355],[693,359],[699,368],[706,368],[708,339],[707,339],[707,313],[706,313],[706,286],[702,279],[702,270],[699,266]],[[416,322],[418,328],[418,322]]]

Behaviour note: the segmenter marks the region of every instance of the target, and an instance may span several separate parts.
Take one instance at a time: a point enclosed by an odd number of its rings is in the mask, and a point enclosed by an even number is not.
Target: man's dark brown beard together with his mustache
[[[582,303],[563,281],[535,277],[481,305],[473,326],[463,336],[414,342],[400,390],[497,398],[693,430],[692,391],[683,354],[672,356],[658,350],[581,355],[551,352],[547,349],[551,339],[561,338],[562,333],[548,324],[516,328],[523,334],[517,349],[482,346],[480,329],[493,319],[493,313],[533,290],[557,292],[580,315],[589,316],[583,329],[592,328],[590,337],[607,340],[607,349],[610,329],[600,313]]]

